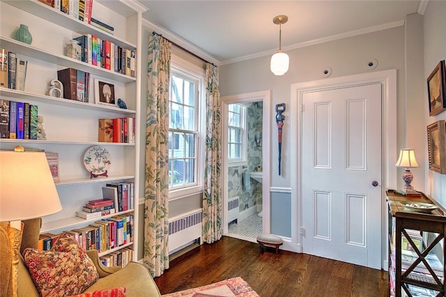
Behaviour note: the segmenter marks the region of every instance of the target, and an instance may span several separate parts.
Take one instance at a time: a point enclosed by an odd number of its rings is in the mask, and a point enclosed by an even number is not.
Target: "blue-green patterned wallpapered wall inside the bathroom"
[[[243,188],[243,173],[255,171],[262,164],[262,147],[257,147],[255,138],[262,135],[263,103],[253,102],[247,108],[247,168],[235,166],[228,168],[228,198],[240,198],[240,211],[262,204],[262,185],[251,179],[251,189]]]

